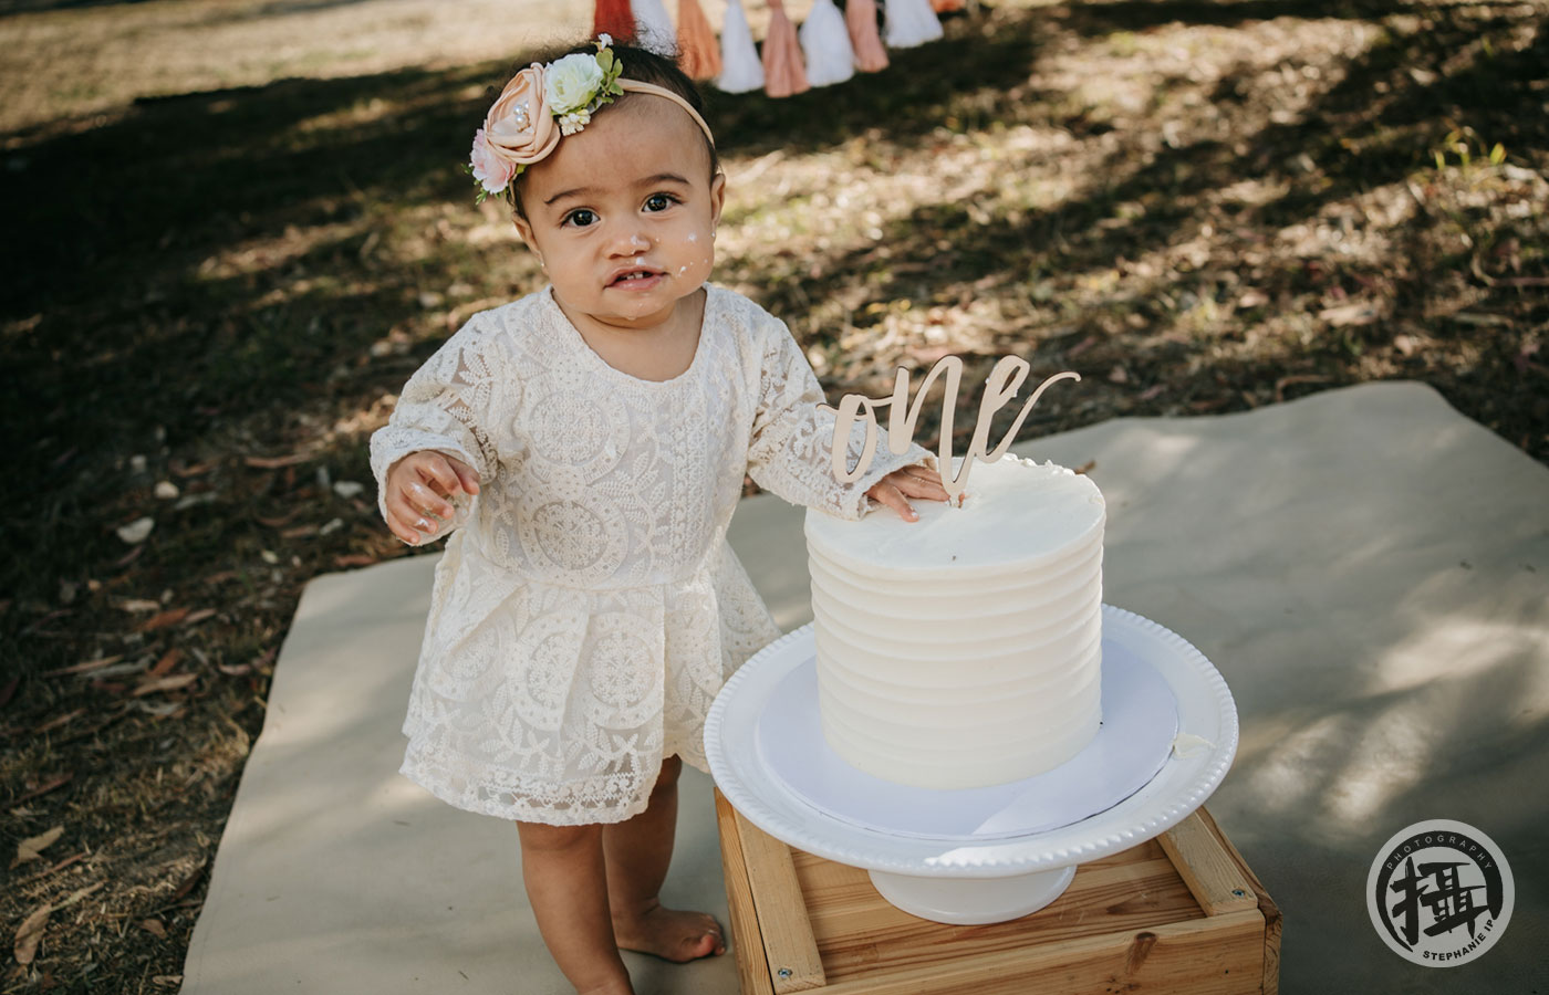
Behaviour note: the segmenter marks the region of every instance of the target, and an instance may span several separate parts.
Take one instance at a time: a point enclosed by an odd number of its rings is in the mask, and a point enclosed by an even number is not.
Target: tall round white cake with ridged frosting
[[[855,768],[981,788],[1075,757],[1101,716],[1103,495],[1052,463],[976,464],[962,508],[807,512],[818,707]]]

